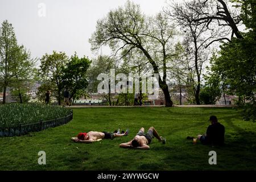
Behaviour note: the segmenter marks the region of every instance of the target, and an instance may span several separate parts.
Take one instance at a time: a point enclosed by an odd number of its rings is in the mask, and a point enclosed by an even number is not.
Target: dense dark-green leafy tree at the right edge
[[[245,118],[256,119],[256,3],[253,0],[233,1],[239,7],[246,31],[238,32],[231,42],[221,45],[218,56],[213,59],[210,79],[219,75],[222,85],[229,93],[236,94],[242,101],[249,101],[245,109]]]

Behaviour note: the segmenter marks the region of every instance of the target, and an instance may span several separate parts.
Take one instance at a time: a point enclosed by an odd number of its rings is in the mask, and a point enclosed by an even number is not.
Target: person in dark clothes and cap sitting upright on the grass
[[[224,144],[225,127],[218,122],[215,115],[211,115],[209,121],[211,125],[208,126],[206,135],[197,135],[197,139],[203,144],[221,146]],[[193,137],[187,137],[187,139],[193,139]]]

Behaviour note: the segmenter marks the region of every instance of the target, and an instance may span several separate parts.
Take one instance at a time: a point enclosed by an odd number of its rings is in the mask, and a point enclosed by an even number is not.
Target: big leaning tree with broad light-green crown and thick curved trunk
[[[166,106],[172,106],[167,85],[167,63],[172,55],[173,35],[174,29],[164,15],[146,17],[139,5],[127,1],[124,7],[110,11],[105,18],[98,20],[90,43],[92,50],[108,45],[116,52],[141,52],[154,73],[162,75],[159,76],[159,86],[163,90]]]

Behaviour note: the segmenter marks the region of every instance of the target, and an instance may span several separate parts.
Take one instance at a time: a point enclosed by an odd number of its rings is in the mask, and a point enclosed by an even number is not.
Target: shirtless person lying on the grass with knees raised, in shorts
[[[156,137],[160,142],[162,141],[162,137],[159,136],[158,132],[155,130],[154,127],[150,127],[146,134],[144,134],[144,128],[142,127],[139,130],[139,133],[127,143],[119,144],[119,147],[123,148],[138,148],[138,149],[150,149],[148,144],[151,143],[152,138]]]

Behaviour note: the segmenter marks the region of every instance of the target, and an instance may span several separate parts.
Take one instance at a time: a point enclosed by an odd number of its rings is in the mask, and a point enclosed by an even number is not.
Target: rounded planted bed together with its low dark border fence
[[[0,137],[13,137],[48,127],[64,125],[73,119],[71,109],[42,104],[0,105]]]

